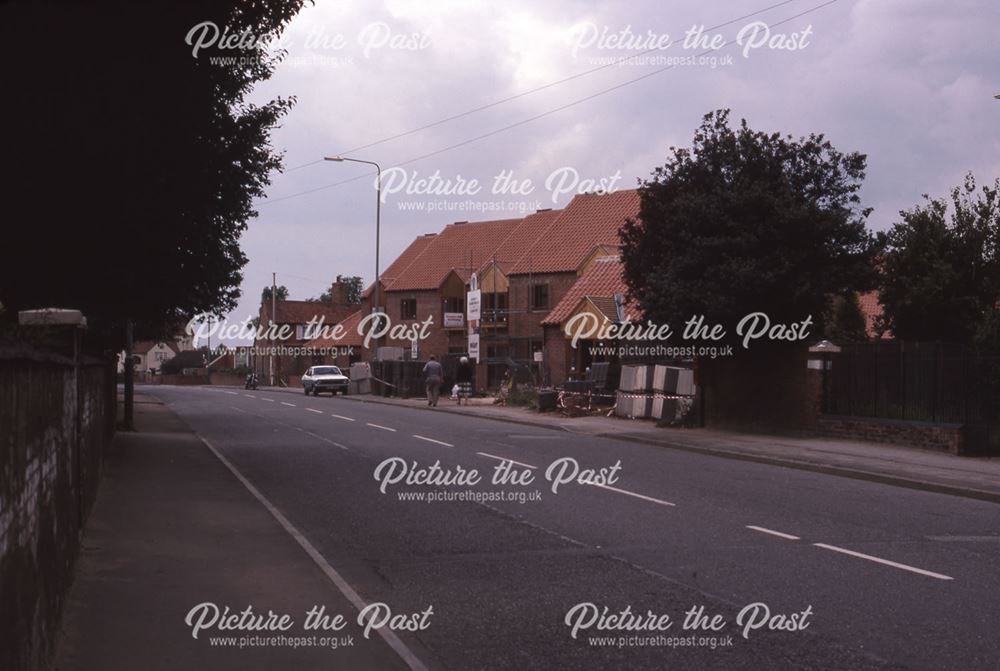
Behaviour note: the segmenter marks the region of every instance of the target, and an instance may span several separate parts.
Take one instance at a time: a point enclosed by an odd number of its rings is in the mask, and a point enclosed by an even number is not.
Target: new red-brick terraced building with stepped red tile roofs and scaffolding
[[[416,238],[386,269],[381,302],[393,323],[433,316],[419,358],[463,353],[465,294],[476,273],[483,306],[480,384],[495,386],[511,362],[531,367],[541,380],[562,382],[590,363],[589,352],[567,346],[560,329],[565,320],[585,309],[618,318],[617,308],[608,307],[625,291],[618,230],[638,212],[638,192],[624,190],[581,194],[562,210],[518,219],[455,222]],[[365,295],[370,310],[372,288]]]

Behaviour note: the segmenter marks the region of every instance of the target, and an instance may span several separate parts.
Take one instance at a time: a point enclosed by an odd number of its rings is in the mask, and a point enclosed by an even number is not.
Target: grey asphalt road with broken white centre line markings
[[[369,642],[403,668],[1000,663],[996,504],[342,397],[147,391],[333,588],[412,616]]]

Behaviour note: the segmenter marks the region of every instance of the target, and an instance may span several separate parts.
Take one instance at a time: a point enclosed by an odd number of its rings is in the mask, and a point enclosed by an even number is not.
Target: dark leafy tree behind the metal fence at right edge
[[[1000,346],[1000,180],[970,174],[949,198],[899,213],[882,234],[882,326],[905,340]]]

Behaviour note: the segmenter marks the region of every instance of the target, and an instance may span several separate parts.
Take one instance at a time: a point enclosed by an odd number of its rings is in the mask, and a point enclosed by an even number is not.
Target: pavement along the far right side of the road
[[[298,389],[267,389],[302,394]],[[756,461],[1000,503],[1000,458],[997,457],[958,457],[925,448],[834,438],[663,428],[657,427],[650,420],[604,415],[571,418],[555,412],[540,413],[525,407],[498,406],[493,403],[492,398],[474,398],[470,405],[459,406],[445,397],[437,408],[428,408],[424,399],[372,395],[346,398],[361,403],[471,414],[570,433],[647,443],[728,459]]]

